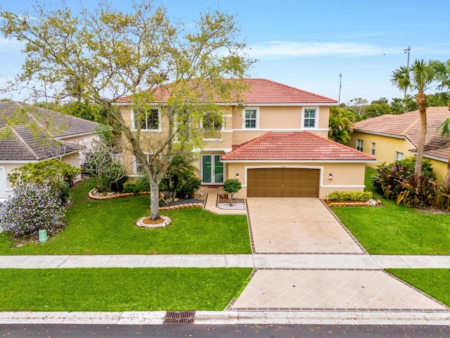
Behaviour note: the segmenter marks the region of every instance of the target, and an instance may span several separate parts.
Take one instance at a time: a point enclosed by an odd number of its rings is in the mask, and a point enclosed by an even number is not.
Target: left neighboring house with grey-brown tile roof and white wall
[[[6,126],[11,116],[18,123]],[[25,123],[25,121],[27,121]],[[98,123],[13,101],[0,101],[0,201],[12,194],[8,174],[30,162],[61,158],[79,167],[78,145],[95,137]]]

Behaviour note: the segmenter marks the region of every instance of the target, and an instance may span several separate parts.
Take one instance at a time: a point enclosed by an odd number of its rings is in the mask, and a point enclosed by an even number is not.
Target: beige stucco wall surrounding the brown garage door
[[[336,191],[364,191],[364,175],[366,163],[226,163],[225,178],[235,178],[239,174],[239,180],[243,189],[236,194],[237,198],[247,197],[247,176],[251,168],[310,168],[321,170],[319,197],[326,199],[328,192]],[[333,174],[333,180],[328,175]]]

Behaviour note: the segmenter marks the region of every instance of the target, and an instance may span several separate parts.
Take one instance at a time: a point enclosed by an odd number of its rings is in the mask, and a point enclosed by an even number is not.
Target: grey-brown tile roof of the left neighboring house
[[[20,115],[10,125],[6,137],[0,142],[0,161],[40,161],[77,150],[73,144],[63,142],[67,137],[93,134],[98,123],[75,118],[56,111],[13,101],[0,101],[0,127],[6,129],[8,118]],[[31,125],[26,123],[31,121]],[[56,139],[61,141],[56,141]]]

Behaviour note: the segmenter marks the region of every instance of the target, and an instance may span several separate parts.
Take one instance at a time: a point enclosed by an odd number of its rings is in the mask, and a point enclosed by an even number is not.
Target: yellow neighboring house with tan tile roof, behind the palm
[[[439,136],[439,125],[450,117],[447,107],[427,108],[427,137],[424,158],[432,163],[437,177],[445,177],[450,138]],[[417,154],[420,138],[419,111],[400,115],[381,115],[355,123],[349,146],[375,156],[378,163],[392,163]]]

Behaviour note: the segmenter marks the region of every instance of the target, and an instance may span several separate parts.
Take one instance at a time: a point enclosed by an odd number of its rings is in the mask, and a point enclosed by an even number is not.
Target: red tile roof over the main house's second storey
[[[305,92],[302,89],[290,87],[285,84],[265,79],[242,79],[248,85],[243,91],[243,98],[236,100],[244,104],[330,104],[336,105],[338,101],[326,96]],[[155,90],[156,102],[164,103],[169,99],[169,87],[158,87]],[[130,102],[129,96],[117,99],[117,103]],[[217,99],[217,103],[230,103]]]

